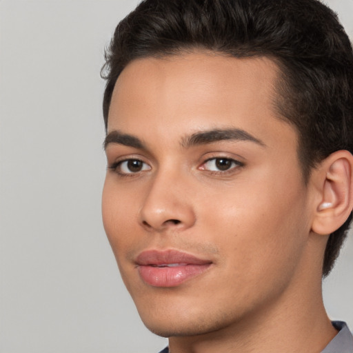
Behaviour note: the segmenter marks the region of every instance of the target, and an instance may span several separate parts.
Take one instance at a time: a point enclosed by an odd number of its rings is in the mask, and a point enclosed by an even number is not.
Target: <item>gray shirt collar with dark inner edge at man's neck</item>
[[[346,323],[342,321],[333,321],[332,325],[339,330],[334,339],[325,347],[321,353],[353,353],[353,336]],[[168,347],[165,347],[159,353],[169,353]]]

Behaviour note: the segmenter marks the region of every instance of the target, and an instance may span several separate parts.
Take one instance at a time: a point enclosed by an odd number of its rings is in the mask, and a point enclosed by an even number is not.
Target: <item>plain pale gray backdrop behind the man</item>
[[[137,0],[0,1],[0,352],[148,353],[101,224],[103,49]],[[353,0],[330,0],[353,34]],[[353,327],[353,235],[324,283]]]

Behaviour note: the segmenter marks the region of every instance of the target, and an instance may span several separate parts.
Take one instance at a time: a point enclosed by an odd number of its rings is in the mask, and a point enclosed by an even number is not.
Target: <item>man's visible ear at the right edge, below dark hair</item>
[[[315,172],[319,197],[316,198],[312,231],[331,234],[345,223],[352,212],[353,156],[346,150],[336,151]]]

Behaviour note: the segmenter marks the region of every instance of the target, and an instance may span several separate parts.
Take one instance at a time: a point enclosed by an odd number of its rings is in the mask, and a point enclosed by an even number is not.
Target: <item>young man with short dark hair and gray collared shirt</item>
[[[146,0],[106,54],[103,222],[163,352],[353,352],[353,54],[316,0]]]

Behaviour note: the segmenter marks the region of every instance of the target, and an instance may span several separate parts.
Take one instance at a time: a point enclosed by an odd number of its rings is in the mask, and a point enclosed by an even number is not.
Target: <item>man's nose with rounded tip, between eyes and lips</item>
[[[163,232],[192,227],[196,218],[189,191],[187,182],[180,175],[159,173],[151,181],[140,210],[140,223],[143,228]]]

